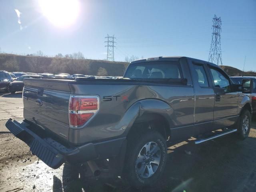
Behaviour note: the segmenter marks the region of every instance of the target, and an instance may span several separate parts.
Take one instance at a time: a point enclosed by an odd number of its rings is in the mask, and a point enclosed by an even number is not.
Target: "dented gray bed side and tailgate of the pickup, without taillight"
[[[184,86],[187,87],[185,90],[182,88]],[[99,112],[86,127],[74,129],[69,126],[71,95],[100,98]],[[181,81],[166,83],[128,79],[26,79],[23,93],[24,118],[72,144],[104,141],[106,138],[125,136],[127,123],[131,120],[129,118],[136,115],[131,113],[137,113],[138,107],[143,107],[138,101],[146,98],[157,99],[171,106],[175,110],[175,113],[170,112],[175,117],[172,118],[174,126],[193,123],[192,86],[183,85]],[[38,103],[38,100],[42,103]],[[134,106],[136,102],[138,106]],[[154,101],[151,105],[154,105]],[[131,112],[126,113],[127,110]]]

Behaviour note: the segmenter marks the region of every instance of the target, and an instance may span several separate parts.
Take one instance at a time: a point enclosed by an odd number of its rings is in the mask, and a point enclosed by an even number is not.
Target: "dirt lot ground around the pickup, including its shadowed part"
[[[188,140],[171,146],[162,179],[136,190],[122,179],[89,179],[82,177],[82,168],[64,164],[54,170],[38,161],[4,125],[10,117],[22,120],[22,108],[21,93],[0,93],[0,192],[256,191],[256,122],[243,141],[230,134],[199,145]]]

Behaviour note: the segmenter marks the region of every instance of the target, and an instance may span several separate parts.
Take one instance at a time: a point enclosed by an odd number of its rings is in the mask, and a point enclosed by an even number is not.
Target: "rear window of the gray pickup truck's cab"
[[[180,64],[178,62],[155,61],[130,64],[124,77],[135,80],[166,80],[181,79],[182,74]]]

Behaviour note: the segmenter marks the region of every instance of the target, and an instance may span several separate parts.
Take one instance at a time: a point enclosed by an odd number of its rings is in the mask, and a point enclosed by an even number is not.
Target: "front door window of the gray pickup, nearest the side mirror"
[[[230,92],[231,89],[228,78],[226,78],[221,72],[213,68],[211,68],[210,71],[214,80],[214,86],[218,88],[225,88],[228,92]]]

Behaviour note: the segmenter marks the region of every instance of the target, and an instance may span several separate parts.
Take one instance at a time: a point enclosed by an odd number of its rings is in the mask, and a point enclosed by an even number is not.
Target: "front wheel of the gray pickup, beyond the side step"
[[[238,123],[238,137],[244,140],[248,137],[251,129],[252,114],[248,110],[242,111]]]

